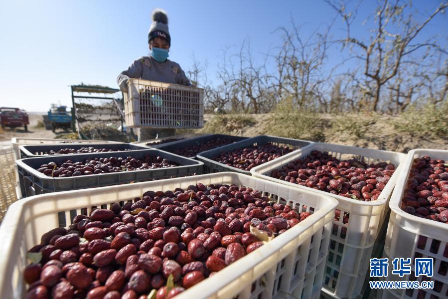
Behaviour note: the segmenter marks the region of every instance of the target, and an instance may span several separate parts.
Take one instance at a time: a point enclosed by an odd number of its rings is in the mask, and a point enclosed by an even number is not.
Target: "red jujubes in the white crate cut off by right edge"
[[[415,158],[401,209],[414,216],[448,223],[448,164],[429,156]]]

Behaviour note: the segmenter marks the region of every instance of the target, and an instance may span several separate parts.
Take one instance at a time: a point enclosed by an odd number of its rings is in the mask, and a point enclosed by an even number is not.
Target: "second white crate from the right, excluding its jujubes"
[[[362,285],[369,266],[369,259],[384,221],[387,202],[392,194],[399,170],[396,170],[383,191],[375,201],[360,201],[340,195],[316,190],[286,182],[271,177],[271,171],[288,164],[291,161],[305,157],[313,150],[328,151],[338,159],[355,157],[366,163],[390,162],[398,167],[406,156],[404,153],[363,149],[342,145],[313,143],[295,150],[270,162],[251,169],[252,175],[277,183],[310,190],[322,195],[328,195],[338,200],[336,209],[341,215],[349,214],[348,223],[343,223],[343,217],[334,219],[331,232],[330,248],[325,266],[323,291],[333,298],[357,298],[361,296]]]

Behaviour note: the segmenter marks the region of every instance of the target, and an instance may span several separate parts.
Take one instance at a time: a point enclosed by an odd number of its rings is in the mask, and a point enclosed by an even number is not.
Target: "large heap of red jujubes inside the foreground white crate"
[[[28,252],[26,298],[172,298],[309,215],[236,185],[147,191],[45,233]]]

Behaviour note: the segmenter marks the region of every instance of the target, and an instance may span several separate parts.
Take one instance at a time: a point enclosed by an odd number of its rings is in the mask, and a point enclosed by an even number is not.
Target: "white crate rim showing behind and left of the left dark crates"
[[[14,152],[14,161],[21,159],[20,147],[27,145],[51,145],[51,144],[97,144],[97,143],[121,143],[106,140],[74,140],[74,139],[52,139],[52,138],[12,138],[12,150]],[[20,180],[18,177],[17,166],[14,163],[15,172],[15,193],[17,198],[21,198]]]

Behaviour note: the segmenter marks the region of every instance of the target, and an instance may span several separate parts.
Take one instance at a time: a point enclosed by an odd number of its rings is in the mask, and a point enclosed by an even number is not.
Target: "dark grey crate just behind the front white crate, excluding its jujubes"
[[[73,162],[77,162],[77,161],[85,161],[86,159],[106,158],[110,156],[114,157],[133,156],[136,158],[140,158],[143,157],[145,154],[161,156],[162,158],[166,158],[168,161],[180,164],[180,166],[79,175],[71,177],[46,176],[45,174],[36,170],[40,165],[47,164],[51,161],[56,163],[63,163],[66,160],[70,159]],[[200,174],[202,173],[202,167],[203,167],[202,162],[199,162],[197,160],[185,158],[176,154],[172,154],[157,149],[41,156],[41,157],[17,160],[16,165],[18,168],[18,175],[20,179],[21,197],[28,197],[36,194],[49,193],[49,192],[110,186],[131,182],[141,182],[161,178]]]

